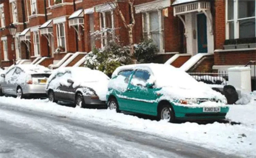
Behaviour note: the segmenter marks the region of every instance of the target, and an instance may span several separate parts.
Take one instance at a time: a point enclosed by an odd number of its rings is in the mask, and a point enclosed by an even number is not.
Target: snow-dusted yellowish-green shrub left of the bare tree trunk
[[[96,49],[87,54],[84,66],[90,69],[96,69],[111,76],[114,70],[126,64],[131,64],[132,59],[129,47],[122,47],[115,42],[109,42],[103,49]]]

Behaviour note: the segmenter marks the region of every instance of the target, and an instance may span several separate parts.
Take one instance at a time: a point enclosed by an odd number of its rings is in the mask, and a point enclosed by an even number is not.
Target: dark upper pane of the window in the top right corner
[[[238,1],[238,18],[255,16],[255,0]]]

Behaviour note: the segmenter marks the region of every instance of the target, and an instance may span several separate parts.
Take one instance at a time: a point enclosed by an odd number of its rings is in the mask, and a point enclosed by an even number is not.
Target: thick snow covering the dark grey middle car
[[[54,79],[57,73],[63,73],[63,75]],[[60,85],[69,87],[71,83],[68,79],[74,82],[73,88],[83,88],[84,95],[91,94],[88,90],[93,89],[100,100],[106,100],[109,77],[101,71],[85,67],[65,67],[54,70],[46,83],[46,89],[58,90]]]

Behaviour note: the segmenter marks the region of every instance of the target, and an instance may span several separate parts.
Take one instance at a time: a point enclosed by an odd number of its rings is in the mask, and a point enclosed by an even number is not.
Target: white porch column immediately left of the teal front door
[[[194,13],[185,14],[185,23],[187,31],[187,54],[191,54],[192,56],[197,54],[197,31],[195,16],[196,15]],[[193,34],[195,35],[195,39]]]

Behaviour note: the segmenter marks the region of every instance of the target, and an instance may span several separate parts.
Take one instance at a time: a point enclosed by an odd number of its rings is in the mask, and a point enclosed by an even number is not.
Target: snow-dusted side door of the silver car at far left
[[[14,95],[16,94],[16,89],[14,90],[14,81],[12,78],[14,72],[15,72],[15,67],[10,69],[4,77],[3,85],[2,85],[2,91],[4,94],[10,94]]]

